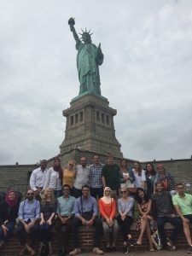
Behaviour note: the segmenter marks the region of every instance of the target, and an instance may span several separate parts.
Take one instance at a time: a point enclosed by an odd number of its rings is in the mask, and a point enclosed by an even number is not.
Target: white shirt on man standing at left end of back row
[[[37,190],[37,187],[44,188],[44,183],[46,180],[48,169],[46,168],[44,172],[41,170],[41,167],[32,171],[30,177],[30,188],[34,191]]]

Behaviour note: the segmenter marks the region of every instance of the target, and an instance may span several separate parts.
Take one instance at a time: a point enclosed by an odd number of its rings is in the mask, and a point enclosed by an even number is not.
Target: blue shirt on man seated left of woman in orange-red
[[[96,199],[92,196],[89,196],[87,199],[84,199],[83,196],[80,196],[74,205],[74,213],[76,217],[79,217],[83,212],[93,211],[93,214],[96,216],[98,213],[98,207]]]

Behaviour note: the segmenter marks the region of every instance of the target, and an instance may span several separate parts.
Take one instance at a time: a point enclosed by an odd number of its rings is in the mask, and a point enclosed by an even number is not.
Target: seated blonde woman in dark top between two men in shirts
[[[55,220],[56,200],[53,189],[44,189],[44,198],[41,201],[41,221],[39,228],[39,237],[41,241],[40,253],[49,247],[49,254],[53,253],[51,244],[51,229]]]

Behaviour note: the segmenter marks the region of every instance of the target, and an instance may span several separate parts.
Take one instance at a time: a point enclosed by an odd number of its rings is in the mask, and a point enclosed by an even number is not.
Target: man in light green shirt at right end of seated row
[[[183,221],[183,232],[188,241],[187,253],[192,253],[192,241],[189,224],[192,224],[192,195],[184,193],[183,183],[177,183],[177,195],[172,197],[173,206]]]

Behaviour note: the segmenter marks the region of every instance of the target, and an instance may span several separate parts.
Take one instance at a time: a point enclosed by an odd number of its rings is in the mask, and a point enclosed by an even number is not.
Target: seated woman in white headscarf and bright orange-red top
[[[119,225],[117,219],[115,219],[116,202],[111,197],[111,189],[109,187],[104,189],[104,194],[99,200],[99,210],[102,214],[102,227],[104,237],[107,241],[107,252],[115,252],[116,241],[119,233]],[[112,247],[110,247],[110,232],[113,233]]]

